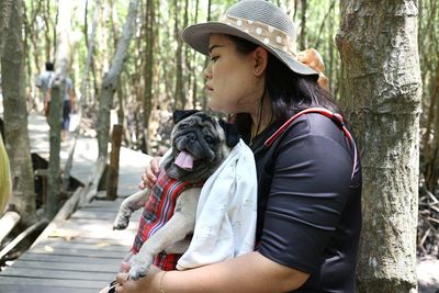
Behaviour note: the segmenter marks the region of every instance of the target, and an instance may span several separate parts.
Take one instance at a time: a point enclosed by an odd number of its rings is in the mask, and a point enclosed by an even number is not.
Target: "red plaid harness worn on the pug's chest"
[[[190,183],[170,178],[165,170],[160,170],[156,184],[150,190],[150,195],[145,204],[144,212],[138,225],[137,235],[131,249],[138,253],[142,245],[172,217],[176,203],[180,194],[190,188],[202,187],[204,182]],[[167,255],[161,251],[155,259],[154,264],[170,271],[176,269],[177,261],[181,255]]]

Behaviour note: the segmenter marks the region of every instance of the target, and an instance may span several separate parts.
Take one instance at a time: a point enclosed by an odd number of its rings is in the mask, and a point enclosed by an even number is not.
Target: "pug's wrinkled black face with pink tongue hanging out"
[[[172,129],[172,155],[165,161],[165,169],[171,178],[199,182],[215,171],[229,147],[226,131],[215,119],[203,112],[187,115]]]

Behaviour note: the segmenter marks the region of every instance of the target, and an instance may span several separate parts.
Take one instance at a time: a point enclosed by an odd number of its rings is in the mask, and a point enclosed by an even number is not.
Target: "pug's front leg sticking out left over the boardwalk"
[[[140,190],[126,198],[119,209],[116,219],[113,223],[113,229],[122,230],[130,224],[130,217],[133,212],[143,207],[149,198],[149,189]]]

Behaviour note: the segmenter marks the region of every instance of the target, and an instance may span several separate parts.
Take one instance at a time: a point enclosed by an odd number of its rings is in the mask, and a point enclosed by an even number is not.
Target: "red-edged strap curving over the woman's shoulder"
[[[317,114],[322,114],[325,115],[327,117],[329,117],[331,121],[334,121],[338,126],[341,127],[342,132],[345,133],[346,137],[348,138],[349,143],[351,144],[351,147],[353,148],[353,167],[352,167],[352,173],[351,173],[351,178],[353,178],[353,174],[356,172],[357,169],[357,146],[356,146],[356,142],[352,138],[352,135],[349,133],[348,128],[346,128],[345,126],[345,122],[344,119],[340,114],[337,113],[333,113],[331,111],[325,109],[325,108],[308,108],[305,109],[299,113],[296,113],[294,116],[292,116],[291,119],[289,119],[285,123],[282,124],[282,126],[280,126],[278,128],[278,131],[275,131],[275,133],[273,133],[264,143],[266,147],[270,147],[274,140],[300,116],[304,115],[304,114],[308,114],[308,113],[317,113]]]

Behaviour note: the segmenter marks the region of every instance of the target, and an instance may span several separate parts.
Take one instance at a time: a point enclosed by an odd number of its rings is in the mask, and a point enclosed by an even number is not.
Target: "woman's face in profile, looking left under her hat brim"
[[[225,35],[212,34],[210,63],[204,70],[209,106],[223,113],[252,113],[263,93],[263,79],[256,69],[255,54],[237,52]]]

